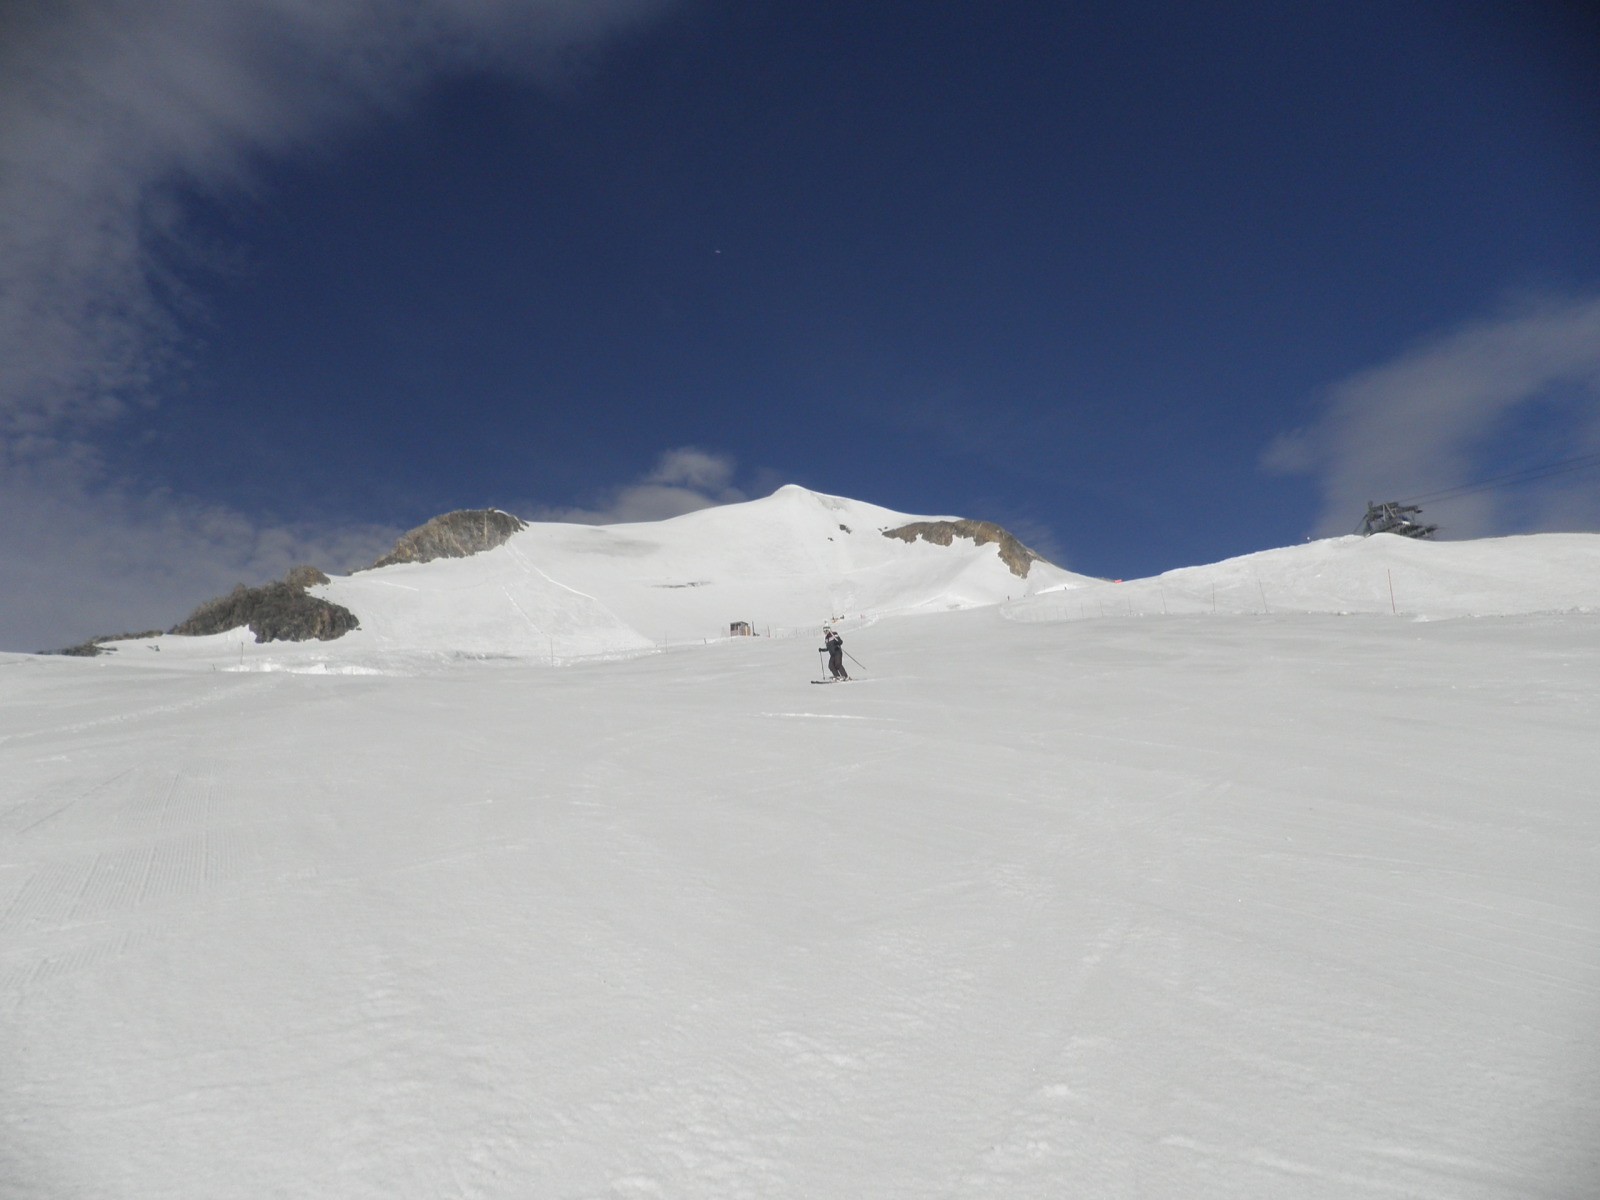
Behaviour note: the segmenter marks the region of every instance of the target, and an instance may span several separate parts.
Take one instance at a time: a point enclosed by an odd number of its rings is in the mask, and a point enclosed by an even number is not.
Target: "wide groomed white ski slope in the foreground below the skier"
[[[1555,549],[1515,616],[858,622],[829,688],[0,656],[0,1195],[1592,1195]]]

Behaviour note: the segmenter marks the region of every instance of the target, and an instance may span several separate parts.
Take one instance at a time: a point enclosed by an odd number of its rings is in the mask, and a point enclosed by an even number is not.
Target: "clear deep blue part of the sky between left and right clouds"
[[[1325,389],[1600,283],[1592,30],[688,5],[557,93],[454,78],[197,197],[240,262],[122,466],[413,525],[595,502],[694,445],[752,493],[987,517],[1094,574],[1299,541],[1317,496],[1259,458]]]

